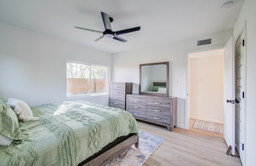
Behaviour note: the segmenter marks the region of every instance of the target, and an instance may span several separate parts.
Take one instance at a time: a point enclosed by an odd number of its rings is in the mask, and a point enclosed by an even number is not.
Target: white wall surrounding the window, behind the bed
[[[28,105],[66,101],[66,60],[111,65],[112,55],[0,23],[0,96]],[[108,105],[108,96],[84,100]]]

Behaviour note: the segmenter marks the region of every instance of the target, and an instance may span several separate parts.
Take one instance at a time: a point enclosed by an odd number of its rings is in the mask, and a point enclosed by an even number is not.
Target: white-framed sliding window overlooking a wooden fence
[[[67,62],[67,97],[104,95],[108,92],[108,67]]]

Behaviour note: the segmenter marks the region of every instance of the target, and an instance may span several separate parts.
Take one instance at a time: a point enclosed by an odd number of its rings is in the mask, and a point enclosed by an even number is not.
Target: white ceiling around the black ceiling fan
[[[244,0],[0,0],[0,22],[109,53],[118,53],[230,30]],[[141,26],[114,39],[74,26],[104,31],[100,12],[114,19],[112,30]]]

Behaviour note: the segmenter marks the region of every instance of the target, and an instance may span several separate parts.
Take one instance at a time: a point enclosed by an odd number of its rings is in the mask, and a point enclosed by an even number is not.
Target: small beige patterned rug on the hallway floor
[[[219,134],[224,133],[223,124],[200,121],[200,120],[195,121],[195,123],[193,125],[193,128],[198,128],[198,129],[201,129],[201,130],[216,132],[216,133],[219,133]]]

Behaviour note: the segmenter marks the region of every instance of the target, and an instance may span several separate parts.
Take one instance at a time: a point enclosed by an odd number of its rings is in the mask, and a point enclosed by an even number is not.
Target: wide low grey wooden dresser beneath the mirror
[[[135,119],[166,126],[169,131],[177,125],[177,97],[130,94],[126,111]]]

